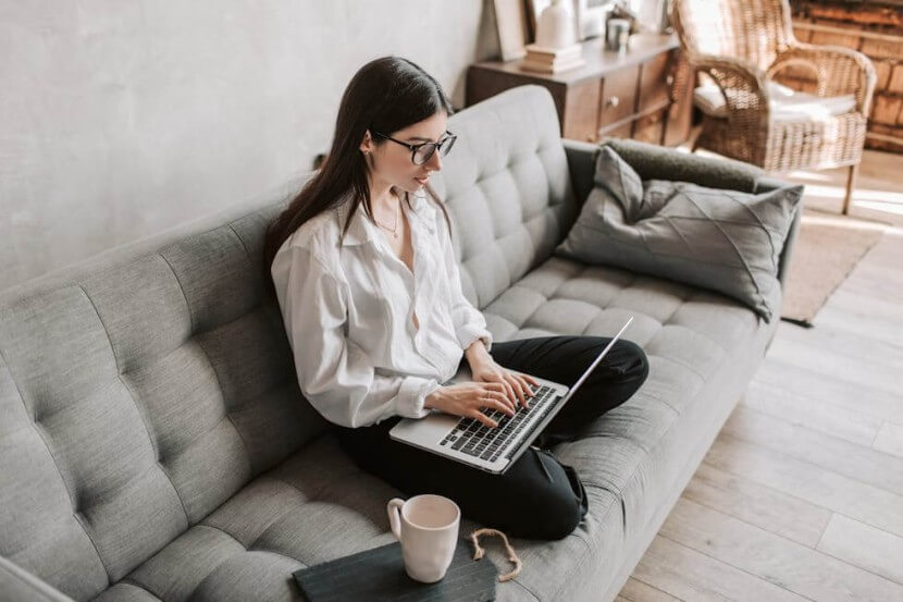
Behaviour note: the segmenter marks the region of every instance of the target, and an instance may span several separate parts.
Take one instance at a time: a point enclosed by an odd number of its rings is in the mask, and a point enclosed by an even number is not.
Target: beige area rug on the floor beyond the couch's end
[[[883,222],[804,207],[781,320],[813,328],[818,310],[888,228]]]

